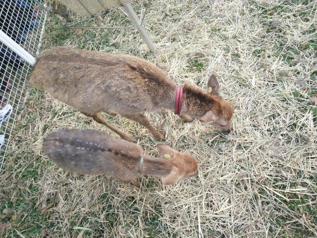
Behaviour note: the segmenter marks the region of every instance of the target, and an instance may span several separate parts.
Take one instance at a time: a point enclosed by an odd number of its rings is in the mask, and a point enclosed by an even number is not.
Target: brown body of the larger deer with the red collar
[[[53,48],[39,57],[30,79],[34,86],[86,113],[157,111],[166,94],[176,88],[146,60],[65,48]]]

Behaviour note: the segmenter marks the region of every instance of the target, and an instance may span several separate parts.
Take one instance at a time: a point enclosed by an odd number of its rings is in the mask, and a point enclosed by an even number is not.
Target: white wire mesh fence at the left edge
[[[34,9],[35,0],[0,0],[0,30],[26,52],[36,56],[46,12]],[[0,171],[12,140],[14,121],[26,96],[26,77],[31,65],[0,42]]]

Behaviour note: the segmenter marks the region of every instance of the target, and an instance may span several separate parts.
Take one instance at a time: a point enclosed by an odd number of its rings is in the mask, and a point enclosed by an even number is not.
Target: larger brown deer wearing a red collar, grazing
[[[53,48],[37,59],[30,80],[128,141],[133,140],[100,112],[135,120],[159,140],[163,135],[142,113],[166,108],[186,121],[198,119],[225,131],[232,128],[233,110],[220,97],[214,74],[207,83],[211,93],[207,93],[189,83],[177,87],[161,69],[133,56]]]

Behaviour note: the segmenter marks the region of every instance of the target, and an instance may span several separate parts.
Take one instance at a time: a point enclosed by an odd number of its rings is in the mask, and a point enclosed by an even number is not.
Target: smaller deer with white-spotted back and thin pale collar
[[[85,175],[107,175],[139,186],[138,177],[161,177],[164,185],[188,179],[198,172],[197,161],[189,154],[157,144],[155,158],[143,153],[140,145],[115,139],[105,131],[61,129],[44,139],[45,154],[64,170]]]

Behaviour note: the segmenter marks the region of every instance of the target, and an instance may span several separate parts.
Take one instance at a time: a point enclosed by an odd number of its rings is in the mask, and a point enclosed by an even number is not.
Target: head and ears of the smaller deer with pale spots
[[[162,158],[170,160],[174,165],[170,174],[162,178],[164,185],[173,184],[178,180],[189,179],[197,175],[198,163],[191,155],[180,153],[161,143],[157,144],[157,149]]]

